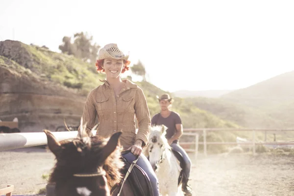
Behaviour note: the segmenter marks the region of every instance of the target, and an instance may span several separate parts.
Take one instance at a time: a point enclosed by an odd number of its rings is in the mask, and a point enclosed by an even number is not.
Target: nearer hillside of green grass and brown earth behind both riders
[[[73,56],[9,40],[0,42],[0,73],[0,118],[18,117],[23,132],[54,130],[63,118],[78,123],[87,94],[104,78],[95,66]],[[159,111],[155,96],[165,92],[147,82],[138,85],[153,116]],[[186,128],[238,127],[191,102],[175,99],[173,110],[180,113]]]

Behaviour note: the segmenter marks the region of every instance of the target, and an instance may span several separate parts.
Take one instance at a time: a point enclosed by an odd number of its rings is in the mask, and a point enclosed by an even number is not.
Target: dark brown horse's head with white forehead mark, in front
[[[122,132],[110,138],[90,137],[82,120],[80,131],[73,139],[58,142],[49,130],[44,132],[49,150],[57,160],[49,178],[49,182],[55,183],[57,196],[109,196],[111,187],[121,181],[119,137]]]

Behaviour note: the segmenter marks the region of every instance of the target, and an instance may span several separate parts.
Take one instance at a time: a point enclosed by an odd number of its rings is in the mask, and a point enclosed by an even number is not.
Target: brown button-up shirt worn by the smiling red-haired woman
[[[120,142],[124,149],[134,145],[137,139],[141,139],[142,147],[146,147],[151,120],[142,89],[129,80],[123,80],[125,84],[116,98],[108,82],[102,82],[104,84],[89,93],[84,105],[83,122],[87,122],[87,133],[91,134],[97,117],[99,125],[96,135],[109,137],[116,131],[122,131]],[[138,132],[135,117],[138,120]]]

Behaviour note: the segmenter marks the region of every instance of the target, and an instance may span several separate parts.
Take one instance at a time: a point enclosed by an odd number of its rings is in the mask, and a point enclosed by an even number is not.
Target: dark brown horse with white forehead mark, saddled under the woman
[[[49,176],[56,196],[152,196],[147,174],[122,157],[122,132],[110,138],[90,137],[82,120],[80,127],[76,138],[60,142],[44,130],[57,160]]]

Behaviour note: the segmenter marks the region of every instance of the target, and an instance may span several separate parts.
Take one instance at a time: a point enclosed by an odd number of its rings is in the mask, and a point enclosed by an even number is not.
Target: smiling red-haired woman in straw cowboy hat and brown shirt
[[[99,50],[96,63],[97,71],[106,74],[105,80],[93,89],[87,99],[83,111],[83,122],[87,122],[87,132],[95,126],[98,118],[97,135],[109,137],[113,132],[122,131],[120,143],[128,162],[133,162],[139,155],[139,165],[148,175],[153,196],[159,196],[158,182],[152,167],[143,155],[142,148],[148,144],[150,132],[150,113],[145,95],[140,87],[129,80],[122,80],[121,73],[129,69],[128,55],[124,55],[116,44],[108,44]],[[135,116],[138,120],[136,134]],[[78,128],[79,131],[79,128]]]

